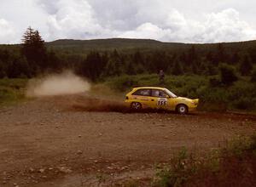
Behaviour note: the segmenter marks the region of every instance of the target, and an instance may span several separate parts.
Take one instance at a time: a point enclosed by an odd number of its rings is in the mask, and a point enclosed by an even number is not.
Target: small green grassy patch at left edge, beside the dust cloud
[[[26,79],[0,79],[0,107],[25,99]]]

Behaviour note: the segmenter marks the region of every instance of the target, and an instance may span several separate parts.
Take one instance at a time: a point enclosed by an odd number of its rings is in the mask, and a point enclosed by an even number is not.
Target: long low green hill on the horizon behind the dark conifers
[[[108,51],[117,49],[119,51],[134,50],[152,51],[163,49],[172,52],[180,52],[184,49],[195,46],[200,51],[215,50],[219,43],[181,43],[181,42],[160,42],[150,39],[125,39],[125,38],[112,38],[112,39],[95,39],[95,40],[71,40],[63,39],[53,42],[46,42],[48,48],[55,50],[56,52],[72,53],[72,54],[87,54],[89,51]],[[228,51],[244,51],[248,48],[256,48],[256,41],[247,42],[222,42],[224,48]]]

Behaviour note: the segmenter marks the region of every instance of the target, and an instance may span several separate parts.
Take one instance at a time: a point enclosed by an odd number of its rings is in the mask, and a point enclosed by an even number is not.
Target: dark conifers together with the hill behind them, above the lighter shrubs
[[[32,38],[32,33],[38,36]],[[172,75],[212,76],[218,74],[219,65],[230,65],[241,76],[251,76],[255,64],[256,41],[185,44],[113,38],[44,42],[38,31],[29,28],[22,44],[0,46],[0,77],[9,78],[63,69],[92,81],[160,70]]]

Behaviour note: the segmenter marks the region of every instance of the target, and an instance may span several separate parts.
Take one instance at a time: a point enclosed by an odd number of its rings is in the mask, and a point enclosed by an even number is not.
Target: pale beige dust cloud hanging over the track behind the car
[[[52,74],[28,82],[26,96],[42,97],[51,95],[79,94],[90,90],[90,83],[71,71]]]

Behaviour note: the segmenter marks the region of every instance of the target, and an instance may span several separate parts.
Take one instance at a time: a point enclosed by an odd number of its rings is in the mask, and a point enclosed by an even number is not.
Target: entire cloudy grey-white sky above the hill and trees
[[[163,42],[256,39],[255,0],[0,0],[0,43],[28,26],[45,41],[108,37]]]

